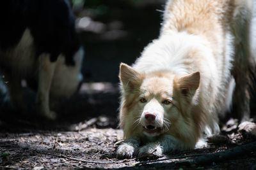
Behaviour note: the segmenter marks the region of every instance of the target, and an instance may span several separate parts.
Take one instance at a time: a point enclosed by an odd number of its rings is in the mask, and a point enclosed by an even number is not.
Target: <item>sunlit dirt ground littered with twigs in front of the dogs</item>
[[[237,159],[212,162],[208,165],[179,166],[175,164],[175,162],[186,159],[184,157],[183,159],[159,161],[163,164],[157,162],[136,166],[140,161],[134,159],[118,160],[115,158],[115,148],[118,141],[122,140],[122,131],[111,128],[97,129],[90,127],[80,132],[39,131],[1,133],[0,135],[0,152],[2,154],[0,165],[6,169],[155,169],[156,166],[161,169],[255,169],[256,167],[255,152]],[[236,138],[240,137],[236,136]],[[236,143],[236,145],[241,145],[241,143]],[[195,153],[221,152],[236,145],[210,145],[203,149],[170,153],[163,158]]]

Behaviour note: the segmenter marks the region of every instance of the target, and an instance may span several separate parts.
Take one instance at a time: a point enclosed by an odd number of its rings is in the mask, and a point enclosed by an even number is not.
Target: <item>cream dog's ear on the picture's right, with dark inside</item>
[[[200,73],[199,71],[191,73],[188,76],[183,76],[179,78],[179,88],[180,92],[184,96],[194,96],[196,89],[198,89],[200,84]]]

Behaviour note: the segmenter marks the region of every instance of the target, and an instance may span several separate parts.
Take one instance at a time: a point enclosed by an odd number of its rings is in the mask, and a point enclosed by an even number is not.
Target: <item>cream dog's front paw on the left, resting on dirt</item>
[[[134,153],[134,147],[127,143],[122,143],[116,150],[116,157],[118,159],[132,159]]]

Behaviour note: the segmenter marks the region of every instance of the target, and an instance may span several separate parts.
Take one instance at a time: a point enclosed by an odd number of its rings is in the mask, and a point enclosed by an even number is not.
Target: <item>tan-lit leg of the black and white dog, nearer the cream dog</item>
[[[38,58],[38,90],[36,94],[36,107],[40,115],[54,120],[56,113],[49,108],[49,92],[56,62],[51,62],[50,54],[43,53]]]

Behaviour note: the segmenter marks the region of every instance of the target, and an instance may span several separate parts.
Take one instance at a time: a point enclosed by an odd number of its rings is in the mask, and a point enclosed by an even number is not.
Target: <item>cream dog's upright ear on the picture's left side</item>
[[[127,64],[120,64],[119,78],[124,88],[138,87],[141,84],[143,75]]]

